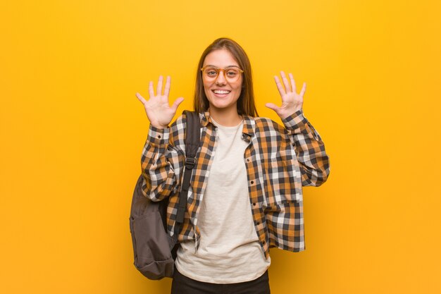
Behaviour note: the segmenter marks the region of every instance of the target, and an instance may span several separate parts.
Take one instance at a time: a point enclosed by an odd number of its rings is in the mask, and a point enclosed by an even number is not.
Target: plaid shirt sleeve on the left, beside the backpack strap
[[[185,154],[176,143],[180,132],[176,125],[159,129],[149,126],[149,134],[142,149],[141,166],[144,196],[160,201],[178,190]]]

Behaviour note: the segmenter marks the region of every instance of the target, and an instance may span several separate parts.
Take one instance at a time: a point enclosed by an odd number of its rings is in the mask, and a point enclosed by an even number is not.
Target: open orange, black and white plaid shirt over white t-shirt
[[[201,146],[192,173],[187,210],[178,240],[201,236],[198,214],[213,157],[216,156],[216,126],[209,111],[201,118]],[[150,125],[142,151],[143,192],[153,201],[169,198],[168,233],[173,235],[178,195],[185,169],[185,115],[170,128]],[[320,135],[299,110],[285,118],[285,128],[268,118],[243,116],[242,140],[250,209],[254,228],[266,258],[270,247],[299,252],[305,249],[302,186],[319,186],[328,178],[328,155]],[[228,187],[225,187],[228,189]]]

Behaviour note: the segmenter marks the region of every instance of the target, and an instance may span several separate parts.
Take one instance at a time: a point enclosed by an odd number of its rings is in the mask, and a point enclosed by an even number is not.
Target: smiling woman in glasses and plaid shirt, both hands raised
[[[302,185],[328,178],[320,135],[303,116],[306,84],[297,94],[292,74],[275,83],[282,105],[266,106],[284,126],[257,116],[251,66],[232,39],[216,39],[201,56],[194,109],[201,118],[201,147],[178,240],[172,293],[270,293],[270,247],[304,250]],[[159,77],[156,95],[137,93],[150,121],[142,153],[143,190],[151,200],[170,197],[173,234],[185,164],[185,116],[170,126],[180,97],[168,103]],[[163,92],[163,93],[162,93]]]

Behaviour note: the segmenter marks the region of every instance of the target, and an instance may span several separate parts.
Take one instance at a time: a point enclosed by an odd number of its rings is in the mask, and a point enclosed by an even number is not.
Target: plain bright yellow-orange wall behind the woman
[[[304,189],[306,251],[273,249],[282,293],[440,293],[440,1],[1,1],[0,293],[169,293],[132,265],[148,121],[135,97],[231,37],[259,114],[306,81],[331,173]]]

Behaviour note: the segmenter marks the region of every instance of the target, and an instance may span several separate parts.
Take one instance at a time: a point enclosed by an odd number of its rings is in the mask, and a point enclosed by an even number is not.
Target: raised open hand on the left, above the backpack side
[[[173,102],[172,106],[168,104],[168,93],[170,92],[170,76],[167,76],[166,87],[164,93],[162,94],[162,75],[159,76],[158,87],[156,90],[156,96],[153,90],[153,82],[149,82],[149,96],[150,99],[147,101],[139,93],[136,93],[136,97],[139,99],[149,118],[150,124],[156,128],[167,128],[173,116],[176,114],[179,104],[184,101],[184,98],[179,97]]]

